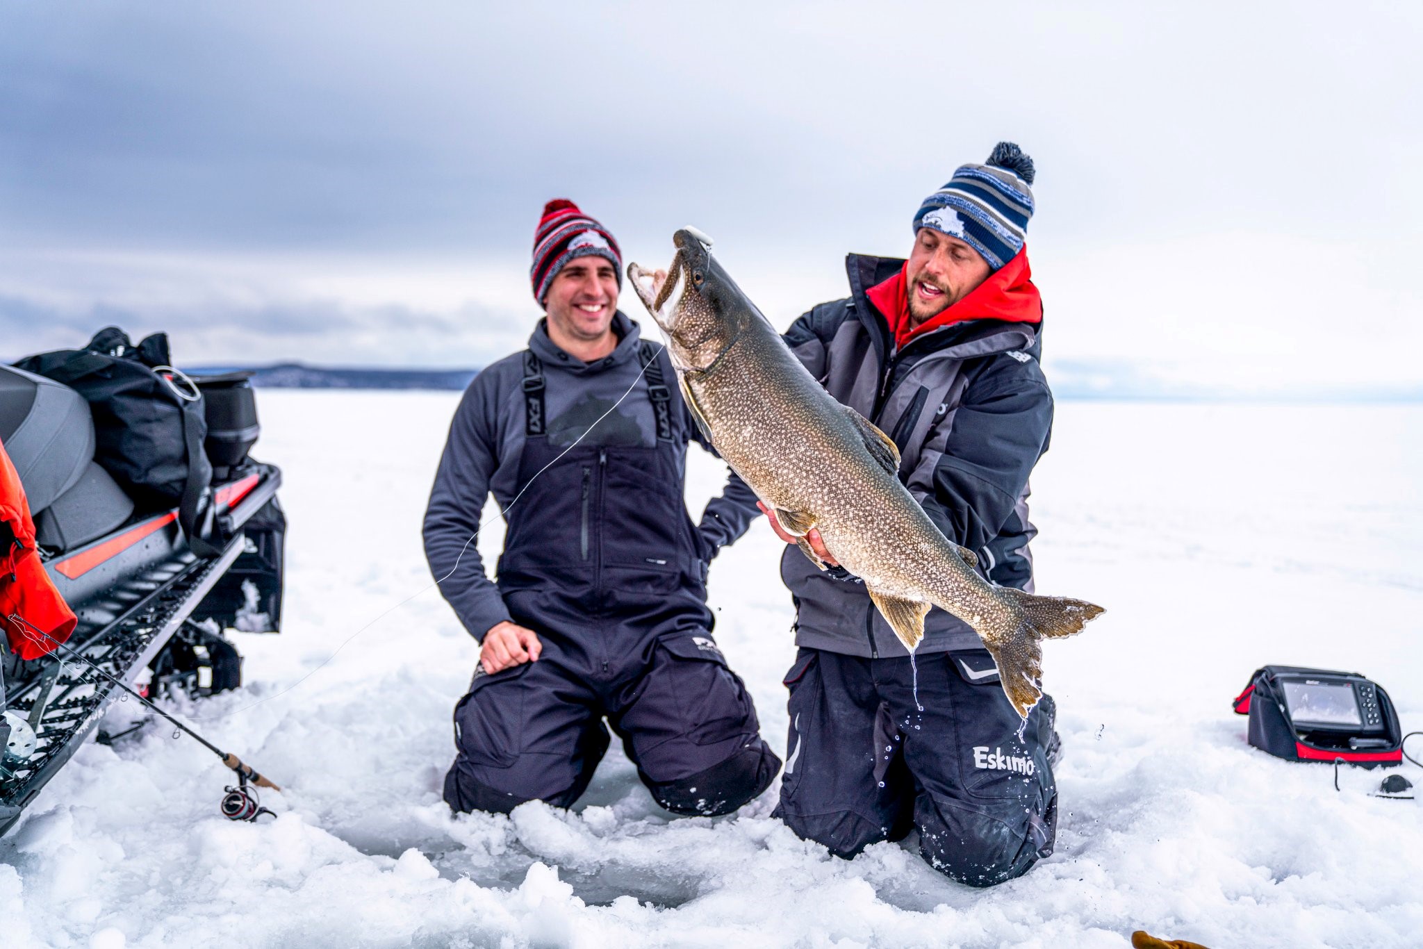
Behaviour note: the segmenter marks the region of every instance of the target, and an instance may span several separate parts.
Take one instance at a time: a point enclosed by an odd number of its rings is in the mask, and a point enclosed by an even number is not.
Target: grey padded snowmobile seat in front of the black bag
[[[0,366],[0,442],[41,546],[70,551],[120,526],[134,502],[94,462],[94,417],[68,386]]]

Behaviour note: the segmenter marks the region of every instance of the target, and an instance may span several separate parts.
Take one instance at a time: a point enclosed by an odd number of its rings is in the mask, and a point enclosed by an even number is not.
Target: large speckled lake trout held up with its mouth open
[[[820,531],[911,653],[931,605],[972,626],[1026,719],[1043,694],[1042,639],[1080,632],[1101,608],[979,576],[975,555],[949,542],[899,482],[894,441],[815,381],[713,259],[712,242],[692,228],[672,240],[665,272],[632,263],[628,276],[716,450],[824,569],[805,541]]]

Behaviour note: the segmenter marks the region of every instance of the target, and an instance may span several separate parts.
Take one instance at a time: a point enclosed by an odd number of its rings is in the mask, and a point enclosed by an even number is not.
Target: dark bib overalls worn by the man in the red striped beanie
[[[591,428],[593,418],[548,420],[542,367],[525,354],[522,494],[508,509],[498,586],[542,653],[492,676],[477,667],[455,706],[445,801],[458,811],[571,805],[608,748],[605,717],[673,812],[733,811],[780,768],[710,637],[707,565],[683,501],[689,420],[662,381],[665,363],[647,344],[640,356],[647,384],[628,398],[652,403],[652,445],[616,413]]]

